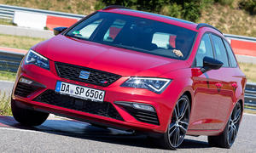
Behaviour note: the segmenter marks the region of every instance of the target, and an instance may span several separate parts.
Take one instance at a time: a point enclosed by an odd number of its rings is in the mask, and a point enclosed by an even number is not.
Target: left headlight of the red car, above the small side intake
[[[37,65],[49,70],[49,60],[32,49],[26,54],[25,65]]]

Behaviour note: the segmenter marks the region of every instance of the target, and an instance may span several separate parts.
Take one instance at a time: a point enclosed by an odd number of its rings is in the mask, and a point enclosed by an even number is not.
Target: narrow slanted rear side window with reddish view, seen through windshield
[[[104,42],[113,42],[119,31],[125,26],[125,20],[115,20],[103,37]]]

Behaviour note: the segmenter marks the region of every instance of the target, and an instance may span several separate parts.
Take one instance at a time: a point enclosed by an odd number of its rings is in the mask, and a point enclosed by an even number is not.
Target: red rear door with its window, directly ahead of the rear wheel
[[[233,86],[236,82],[233,78],[234,70],[230,68],[230,59],[224,46],[223,39],[214,34],[212,34],[211,37],[215,59],[224,63],[220,69],[209,71],[209,75],[212,76],[212,79],[218,81],[216,82],[216,88],[218,89],[216,127],[221,129],[225,125],[227,117],[230,116],[228,113],[232,107],[232,98],[234,97]]]

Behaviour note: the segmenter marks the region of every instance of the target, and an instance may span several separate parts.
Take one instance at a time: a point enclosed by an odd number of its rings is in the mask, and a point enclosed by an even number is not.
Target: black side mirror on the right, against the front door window
[[[205,73],[210,70],[218,70],[222,65],[223,62],[206,56],[203,59],[203,67],[201,68],[201,72]]]

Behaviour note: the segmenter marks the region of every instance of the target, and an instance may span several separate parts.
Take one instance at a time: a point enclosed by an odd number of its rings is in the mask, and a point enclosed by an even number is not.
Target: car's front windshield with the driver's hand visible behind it
[[[195,31],[156,20],[97,12],[66,36],[172,59],[187,59]]]

